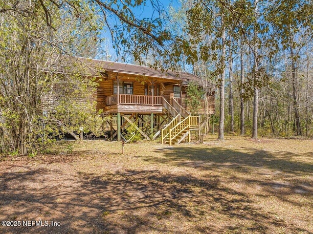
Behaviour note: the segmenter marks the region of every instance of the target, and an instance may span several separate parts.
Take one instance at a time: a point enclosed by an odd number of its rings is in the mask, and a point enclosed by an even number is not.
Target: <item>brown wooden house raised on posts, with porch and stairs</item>
[[[117,136],[118,141],[123,137],[121,130],[133,123],[146,139],[161,134],[162,143],[170,145],[179,143],[186,136],[190,141],[190,130],[199,129],[201,125],[200,114],[215,112],[215,87],[208,83],[197,115],[191,116],[186,105],[186,87],[194,82],[203,88],[201,78],[195,75],[162,72],[133,64],[78,59],[88,64],[89,76],[97,77],[99,86],[92,96],[96,97],[97,110],[103,109],[116,120],[116,124],[113,124],[115,121],[110,123],[111,138]],[[142,129],[146,119],[150,120],[150,134],[147,134],[147,129]]]

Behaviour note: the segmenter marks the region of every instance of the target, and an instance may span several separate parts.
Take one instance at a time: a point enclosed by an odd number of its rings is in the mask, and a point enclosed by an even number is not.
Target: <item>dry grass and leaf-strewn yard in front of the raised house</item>
[[[313,140],[68,144],[0,156],[0,233],[313,234]]]

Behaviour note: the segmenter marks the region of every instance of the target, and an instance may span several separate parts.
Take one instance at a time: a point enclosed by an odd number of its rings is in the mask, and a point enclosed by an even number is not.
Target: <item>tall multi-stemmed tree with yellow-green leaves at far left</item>
[[[66,5],[49,5],[45,22],[37,17],[41,4],[10,3],[0,10],[0,137],[2,150],[24,155],[35,153],[42,144],[39,139],[47,136],[43,132],[45,94],[60,81],[67,81],[67,87],[77,81],[73,73],[81,64],[75,65],[70,55],[93,53],[99,24],[96,17],[82,23],[93,15],[87,5],[79,17],[68,12]],[[76,86],[89,82],[82,81]]]

